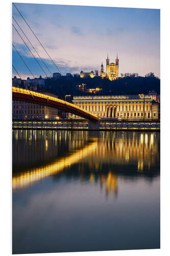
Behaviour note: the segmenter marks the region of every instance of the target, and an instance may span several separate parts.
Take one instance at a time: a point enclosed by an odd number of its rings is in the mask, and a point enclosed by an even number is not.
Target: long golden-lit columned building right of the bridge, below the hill
[[[159,119],[159,103],[151,95],[74,96],[72,101],[99,118]]]

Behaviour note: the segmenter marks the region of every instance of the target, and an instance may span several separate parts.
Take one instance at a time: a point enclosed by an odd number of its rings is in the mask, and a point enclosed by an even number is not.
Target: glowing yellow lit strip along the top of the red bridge
[[[72,108],[76,108],[78,110],[81,110],[95,118],[98,118],[98,116],[95,116],[94,114],[84,110],[84,109],[81,109],[79,108],[79,106],[76,106],[75,104],[72,104],[70,102],[67,102],[67,101],[64,101],[62,99],[58,99],[56,97],[53,97],[53,96],[50,96],[50,95],[46,95],[46,94],[43,94],[43,93],[38,93],[38,92],[34,92],[34,91],[30,91],[30,90],[26,90],[26,89],[22,89],[22,88],[19,88],[19,87],[12,87],[12,92],[15,92],[15,93],[23,93],[23,94],[27,94],[27,95],[31,95],[31,96],[36,96],[36,97],[40,97],[40,98],[45,98],[47,100],[53,100],[53,101],[57,101],[57,102],[60,102],[60,103],[63,103],[63,104],[66,104],[68,106],[71,106]]]

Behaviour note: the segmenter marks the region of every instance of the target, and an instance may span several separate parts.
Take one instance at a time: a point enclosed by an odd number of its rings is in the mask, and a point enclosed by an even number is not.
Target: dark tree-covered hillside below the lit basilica
[[[144,77],[136,76],[134,74],[131,74],[131,76],[130,74],[129,76],[120,76],[114,81],[102,79],[101,77],[80,78],[75,76],[70,79],[61,77],[58,80],[48,78],[45,79],[44,90],[58,95],[63,99],[65,98],[65,95],[88,95],[89,93],[82,92],[78,89],[78,85],[85,83],[86,89],[96,87],[101,88],[102,90],[98,93],[100,95],[148,94],[152,90],[156,91],[157,94],[160,94],[160,79],[155,77],[152,72]]]

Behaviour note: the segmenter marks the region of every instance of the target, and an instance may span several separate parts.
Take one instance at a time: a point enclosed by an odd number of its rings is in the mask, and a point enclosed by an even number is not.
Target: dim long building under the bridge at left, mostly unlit
[[[56,119],[58,110],[50,106],[12,100],[13,119]]]

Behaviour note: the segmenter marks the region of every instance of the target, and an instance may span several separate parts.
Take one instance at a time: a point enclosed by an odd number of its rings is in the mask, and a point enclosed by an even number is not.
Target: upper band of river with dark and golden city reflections
[[[79,163],[80,180],[100,176],[117,193],[116,173],[159,170],[159,134],[135,132],[13,131],[13,189],[29,186]],[[87,166],[88,165],[88,166]],[[132,168],[130,169],[129,168]],[[84,175],[84,169],[86,172]],[[103,175],[107,171],[107,175]],[[76,172],[76,170],[75,170]]]

